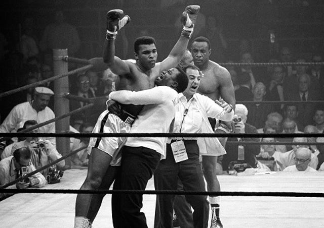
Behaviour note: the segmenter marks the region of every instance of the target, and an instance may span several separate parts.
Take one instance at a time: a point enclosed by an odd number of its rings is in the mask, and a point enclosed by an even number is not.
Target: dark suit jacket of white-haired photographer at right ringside
[[[250,125],[245,124],[246,133],[258,133],[257,129]],[[241,138],[242,141],[247,142],[259,142],[259,138]],[[227,142],[237,141],[237,138],[228,138]],[[237,144],[226,143],[225,150],[226,154],[223,155],[223,170],[228,169],[230,161],[237,160]],[[248,162],[252,167],[256,167],[256,155],[260,153],[260,145],[244,145],[245,161]]]

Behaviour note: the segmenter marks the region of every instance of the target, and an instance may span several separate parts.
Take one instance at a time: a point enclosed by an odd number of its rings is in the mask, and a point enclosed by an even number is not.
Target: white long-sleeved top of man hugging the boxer
[[[175,118],[175,106],[179,103],[178,93],[169,86],[132,92],[119,90],[111,92],[109,98],[123,104],[144,104],[130,133],[168,133]],[[126,146],[146,147],[166,156],[166,137],[130,137]]]

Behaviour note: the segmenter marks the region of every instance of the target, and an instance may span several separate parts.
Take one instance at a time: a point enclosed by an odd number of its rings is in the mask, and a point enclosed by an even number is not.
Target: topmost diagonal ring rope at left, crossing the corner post
[[[28,84],[28,85],[25,85],[25,86],[22,86],[22,87],[13,89],[13,90],[9,90],[9,91],[0,93],[0,98],[5,97],[5,96],[9,96],[9,95],[14,94],[14,93],[18,93],[20,91],[23,91],[23,90],[26,90],[26,89],[29,89],[29,88],[32,88],[32,87],[35,87],[35,86],[42,85],[42,84],[44,84],[46,82],[51,82],[51,81],[54,81],[56,79],[60,79],[60,78],[63,78],[63,77],[69,76],[69,75],[76,74],[78,72],[89,70],[92,67],[93,67],[93,65],[90,64],[90,65],[87,65],[87,66],[84,66],[84,67],[69,71],[67,74],[56,75],[56,76],[53,76],[53,77],[48,78],[48,79],[44,79],[44,80],[39,81],[39,82],[34,82],[34,83],[31,83],[31,84]]]

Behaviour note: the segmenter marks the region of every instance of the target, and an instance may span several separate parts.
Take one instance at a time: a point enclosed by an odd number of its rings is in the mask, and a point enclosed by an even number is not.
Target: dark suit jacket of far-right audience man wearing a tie
[[[287,94],[288,100],[301,100],[298,89],[291,91]],[[308,91],[307,100],[319,100],[320,95],[312,90]],[[306,125],[313,123],[314,109],[316,104],[298,104],[298,122],[301,125],[300,131],[304,129]]]

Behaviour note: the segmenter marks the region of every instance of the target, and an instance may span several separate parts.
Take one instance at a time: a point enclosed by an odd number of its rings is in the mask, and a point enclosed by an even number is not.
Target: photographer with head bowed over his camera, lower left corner
[[[0,186],[6,185],[21,176],[25,176],[35,170],[30,162],[31,153],[26,147],[14,151],[13,156],[9,156],[0,161]],[[7,189],[26,189],[29,187],[41,188],[46,184],[45,177],[41,173],[36,173],[16,185],[9,186]],[[10,193],[0,193],[0,200],[8,197]]]

